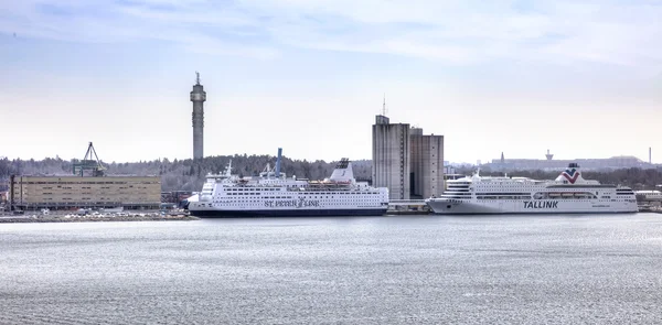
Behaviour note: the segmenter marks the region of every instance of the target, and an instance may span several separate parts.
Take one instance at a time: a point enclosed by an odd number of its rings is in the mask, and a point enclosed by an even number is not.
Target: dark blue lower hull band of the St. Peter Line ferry
[[[383,216],[386,209],[269,209],[269,210],[192,210],[191,215],[201,218],[235,218],[235,217],[359,217]]]

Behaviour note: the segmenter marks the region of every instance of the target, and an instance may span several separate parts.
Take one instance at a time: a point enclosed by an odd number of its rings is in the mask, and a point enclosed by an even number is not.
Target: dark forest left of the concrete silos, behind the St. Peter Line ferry
[[[209,173],[221,173],[232,159],[232,173],[239,176],[253,176],[261,172],[267,163],[274,167],[276,158],[273,155],[220,155],[207,156],[201,161],[168,159],[140,161],[132,163],[105,163],[106,175],[160,175],[161,189],[170,191],[200,191],[204,176]],[[73,164],[77,160],[66,161],[58,156],[44,160],[9,160],[0,158],[0,184],[6,182],[10,175],[71,175]],[[300,178],[321,180],[329,177],[337,162],[323,160],[307,161],[292,160],[286,156],[281,159],[281,172],[287,176],[296,175]],[[354,176],[359,180],[371,177],[371,161],[361,160],[352,162]]]

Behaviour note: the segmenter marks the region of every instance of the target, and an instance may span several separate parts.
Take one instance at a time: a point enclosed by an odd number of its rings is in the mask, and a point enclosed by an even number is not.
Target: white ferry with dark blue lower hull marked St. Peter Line
[[[252,216],[382,216],[388,208],[388,188],[356,182],[352,164],[341,159],[323,181],[287,178],[267,164],[257,177],[232,175],[232,161],[221,175],[207,175],[189,212],[199,217]]]

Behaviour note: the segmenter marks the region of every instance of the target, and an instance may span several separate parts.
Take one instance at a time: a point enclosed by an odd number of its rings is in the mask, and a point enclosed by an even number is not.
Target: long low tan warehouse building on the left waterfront
[[[158,176],[11,176],[14,210],[117,208],[158,209]]]

